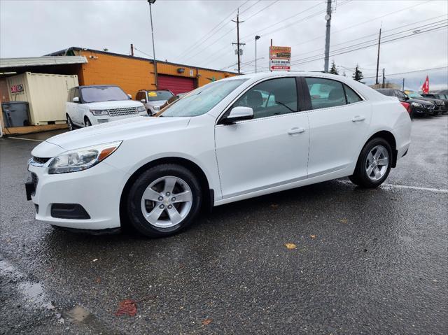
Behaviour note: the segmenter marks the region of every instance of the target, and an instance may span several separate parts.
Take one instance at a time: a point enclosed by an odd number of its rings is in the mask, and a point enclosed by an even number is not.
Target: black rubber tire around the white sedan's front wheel
[[[146,220],[141,209],[141,199],[146,188],[155,180],[166,176],[181,178],[192,192],[192,204],[185,218],[173,227],[156,227]],[[173,194],[174,195],[174,192]],[[202,190],[196,176],[188,169],[177,164],[160,164],[141,173],[127,194],[126,211],[131,226],[140,234],[151,238],[178,234],[192,224],[200,213]],[[166,214],[166,213],[165,213]]]

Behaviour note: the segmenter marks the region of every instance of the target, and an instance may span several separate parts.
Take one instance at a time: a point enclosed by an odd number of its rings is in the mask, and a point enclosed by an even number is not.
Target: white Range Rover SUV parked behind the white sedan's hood
[[[66,102],[69,129],[146,115],[143,104],[130,99],[115,85],[73,87]]]

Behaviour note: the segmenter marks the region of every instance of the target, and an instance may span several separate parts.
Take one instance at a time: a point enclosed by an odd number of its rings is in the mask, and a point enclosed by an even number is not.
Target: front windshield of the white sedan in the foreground
[[[246,80],[216,81],[199,87],[176,101],[176,104],[168,105],[160,116],[190,117],[205,114]]]

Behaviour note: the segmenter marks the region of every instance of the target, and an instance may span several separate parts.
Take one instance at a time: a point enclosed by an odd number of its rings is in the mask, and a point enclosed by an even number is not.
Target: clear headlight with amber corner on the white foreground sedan
[[[52,159],[48,166],[48,174],[76,172],[89,169],[109,157],[118,149],[122,141],[92,145],[64,152]]]

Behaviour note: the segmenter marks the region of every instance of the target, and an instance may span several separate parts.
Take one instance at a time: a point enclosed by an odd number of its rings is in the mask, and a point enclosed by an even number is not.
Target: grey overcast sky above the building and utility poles
[[[236,71],[236,20],[241,21],[244,73],[254,71],[255,35],[259,71],[269,66],[270,39],[291,46],[294,70],[323,70],[325,0],[230,1],[157,0],[152,6],[158,59],[211,69]],[[331,19],[330,62],[352,75],[359,64],[365,77],[375,75],[382,24],[381,69],[386,81],[419,89],[426,75],[430,88],[447,88],[448,1],[337,0]],[[425,32],[428,31],[429,32]],[[410,36],[402,38],[403,36]],[[397,38],[397,39],[395,39]],[[386,42],[395,39],[395,41]],[[34,57],[70,46],[152,57],[146,0],[0,0],[0,57]],[[369,46],[373,45],[373,46]],[[367,47],[353,52],[353,48]],[[148,54],[145,55],[144,53]],[[342,53],[344,52],[344,53]],[[332,55],[338,54],[339,55]],[[227,66],[227,67],[226,67]],[[435,69],[394,75],[422,69]],[[374,78],[367,78],[373,83]]]

